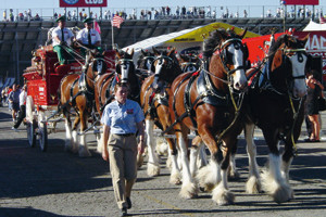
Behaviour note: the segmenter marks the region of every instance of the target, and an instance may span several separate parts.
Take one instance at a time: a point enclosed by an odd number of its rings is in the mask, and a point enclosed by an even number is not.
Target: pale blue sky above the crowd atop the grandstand
[[[265,4],[265,5],[264,5]],[[209,7],[211,5],[215,9],[217,16],[218,13],[222,13],[227,7],[228,10],[233,13],[239,11],[241,15],[246,9],[249,12],[249,15],[260,16],[268,9],[272,12],[276,12],[276,9],[280,7],[279,0],[108,0],[108,9],[111,12],[116,10],[125,9],[127,13],[131,13],[133,8],[138,8],[137,13],[140,13],[141,9],[159,8],[159,7],[168,5],[172,8],[172,12],[175,12],[177,5],[186,8],[189,7]],[[263,8],[264,5],[264,8]],[[224,7],[223,9],[221,7]],[[323,11],[326,11],[326,0],[319,0],[319,7],[323,7]],[[325,9],[324,9],[325,7]],[[0,11],[4,9],[17,9],[14,11],[25,11],[32,9],[32,12],[39,13],[43,16],[51,16],[53,14],[53,8],[60,13],[61,9],[59,8],[59,0],[0,0]],[[42,9],[42,10],[40,10]],[[58,10],[57,10],[58,9]],[[67,9],[68,10],[68,9]],[[73,9],[72,9],[73,10]],[[99,11],[99,9],[93,9]]]

